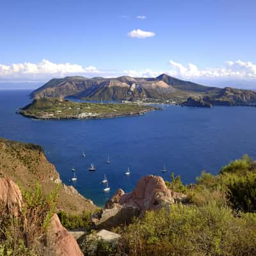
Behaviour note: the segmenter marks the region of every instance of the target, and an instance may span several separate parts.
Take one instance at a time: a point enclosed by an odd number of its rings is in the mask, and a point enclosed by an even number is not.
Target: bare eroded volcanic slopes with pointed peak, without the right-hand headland
[[[72,96],[93,100],[170,99],[211,90],[214,88],[182,81],[166,74],[155,78],[65,77],[52,79],[35,90],[31,96],[35,98]]]

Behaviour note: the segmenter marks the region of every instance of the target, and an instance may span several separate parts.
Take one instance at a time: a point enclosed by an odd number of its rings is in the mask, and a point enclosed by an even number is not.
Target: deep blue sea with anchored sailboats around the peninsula
[[[256,108],[164,106],[144,116],[42,121],[15,114],[31,102],[29,92],[0,91],[0,136],[42,145],[63,182],[97,205],[104,205],[118,188],[131,191],[143,175],[170,180],[174,172],[188,184],[202,170],[216,174],[243,154],[256,157]],[[87,157],[82,157],[83,149]],[[108,154],[111,164],[106,164]],[[88,171],[91,163],[96,172]],[[161,173],[164,164],[168,172]],[[70,182],[72,167],[76,182]],[[100,184],[104,174],[109,193]]]

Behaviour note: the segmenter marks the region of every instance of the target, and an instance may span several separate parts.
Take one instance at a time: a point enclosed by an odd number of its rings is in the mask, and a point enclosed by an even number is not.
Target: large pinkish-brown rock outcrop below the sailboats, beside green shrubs
[[[140,216],[145,211],[156,211],[172,204],[172,191],[166,188],[163,178],[148,175],[140,179],[131,193],[118,189],[106,203],[105,209],[93,215],[92,221],[98,228],[116,227],[129,223],[134,216]]]

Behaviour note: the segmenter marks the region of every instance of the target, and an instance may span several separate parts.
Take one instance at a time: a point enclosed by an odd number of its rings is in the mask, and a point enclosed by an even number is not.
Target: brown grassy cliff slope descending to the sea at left
[[[84,198],[72,186],[61,182],[59,173],[54,165],[47,161],[44,150],[38,145],[0,138],[0,177],[10,178],[24,189],[34,188],[38,180],[45,195],[59,184],[58,210],[81,214],[84,210],[97,209],[91,200]]]

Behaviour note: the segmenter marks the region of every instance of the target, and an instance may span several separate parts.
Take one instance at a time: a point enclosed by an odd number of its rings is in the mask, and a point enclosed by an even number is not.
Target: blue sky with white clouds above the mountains
[[[255,0],[1,0],[0,82],[166,73],[256,88],[255,10]]]

